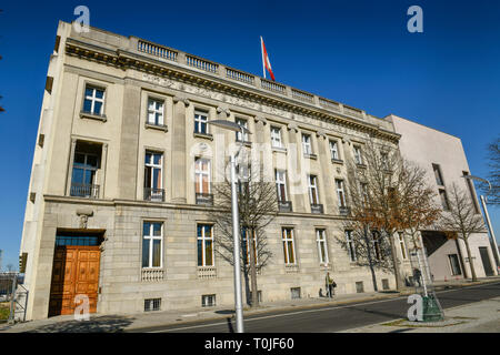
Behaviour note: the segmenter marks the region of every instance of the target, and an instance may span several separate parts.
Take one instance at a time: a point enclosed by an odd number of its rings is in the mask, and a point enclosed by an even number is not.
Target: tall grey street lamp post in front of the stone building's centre
[[[230,130],[234,132],[241,132],[251,134],[250,131],[243,126],[240,126],[236,122],[227,120],[213,120],[208,121],[208,123],[219,126],[224,130]],[[236,159],[240,153],[242,143],[238,152],[231,153],[230,164],[231,164],[231,212],[232,212],[232,239],[233,239],[233,258],[234,258],[234,313],[236,313],[236,325],[237,333],[243,333],[243,302],[241,296],[241,271],[240,271],[240,221],[238,213],[238,194],[237,194],[237,176],[236,176]]]

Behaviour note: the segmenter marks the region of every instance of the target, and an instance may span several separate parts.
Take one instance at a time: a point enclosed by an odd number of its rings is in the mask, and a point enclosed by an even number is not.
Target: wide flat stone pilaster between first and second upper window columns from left
[[[140,88],[126,83],[118,170],[118,195],[126,200],[136,200],[137,197],[140,108]]]

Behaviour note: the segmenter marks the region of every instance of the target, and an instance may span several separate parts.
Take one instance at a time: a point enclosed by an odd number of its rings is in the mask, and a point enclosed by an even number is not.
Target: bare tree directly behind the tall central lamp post
[[[278,197],[274,183],[262,179],[261,169],[248,169],[247,171],[247,174],[239,174],[238,182],[238,212],[241,230],[240,264],[246,280],[247,303],[256,307],[259,305],[257,274],[272,256],[267,242],[266,227],[277,215]],[[227,174],[224,176],[223,182],[213,186],[217,210],[213,216],[220,232],[216,235],[216,251],[222,258],[234,265],[231,182]]]

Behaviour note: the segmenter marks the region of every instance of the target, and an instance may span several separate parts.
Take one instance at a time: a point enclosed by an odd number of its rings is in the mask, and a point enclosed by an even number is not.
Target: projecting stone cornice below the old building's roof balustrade
[[[274,94],[273,92],[262,92],[257,88],[251,88],[223,78],[213,78],[199,71],[189,70],[178,64],[156,60],[140,53],[134,53],[123,49],[111,50],[104,47],[82,42],[68,38],[66,42],[66,53],[106,65],[112,65],[121,70],[134,69],[141,72],[151,73],[177,80],[184,83],[194,84],[203,89],[210,89],[224,94],[238,97],[259,104],[274,106],[292,113],[311,116],[320,121],[331,122],[344,128],[366,132],[371,136],[398,143],[400,134],[388,131],[376,124],[353,119],[342,113],[332,113],[324,109],[310,105],[306,102],[293,100],[287,97]]]

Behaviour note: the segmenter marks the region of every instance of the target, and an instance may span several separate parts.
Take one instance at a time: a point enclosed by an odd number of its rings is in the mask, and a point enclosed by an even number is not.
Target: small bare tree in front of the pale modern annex
[[[449,239],[463,241],[467,256],[469,257],[472,281],[477,281],[478,277],[472,262],[469,239],[473,233],[486,232],[482,215],[476,212],[476,207],[468,193],[456,183],[451,185],[451,189],[447,189],[447,191],[450,192],[448,199],[449,211],[442,213],[439,225],[442,231],[446,231]]]

